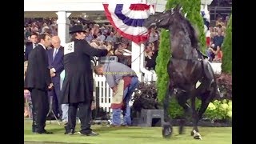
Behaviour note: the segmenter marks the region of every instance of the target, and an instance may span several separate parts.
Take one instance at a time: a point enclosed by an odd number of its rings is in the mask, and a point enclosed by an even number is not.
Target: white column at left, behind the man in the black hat
[[[67,13],[66,11],[58,11],[56,13],[58,15],[58,37],[61,39],[61,45],[65,46],[67,42],[70,41],[69,28],[70,28],[70,20],[69,16],[71,13]]]

